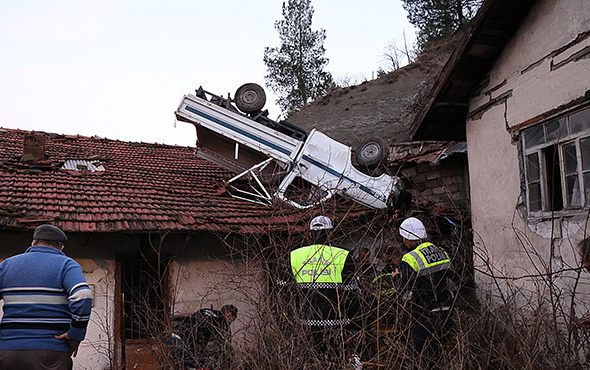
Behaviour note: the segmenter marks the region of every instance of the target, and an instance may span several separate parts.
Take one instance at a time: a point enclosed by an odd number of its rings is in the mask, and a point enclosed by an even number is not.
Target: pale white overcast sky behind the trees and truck
[[[265,87],[265,47],[279,46],[280,0],[2,0],[0,127],[194,146],[194,127],[175,122],[199,86],[233,97]],[[371,79],[384,49],[403,33],[400,0],[312,0],[312,28],[336,80]],[[360,82],[360,81],[359,81]]]

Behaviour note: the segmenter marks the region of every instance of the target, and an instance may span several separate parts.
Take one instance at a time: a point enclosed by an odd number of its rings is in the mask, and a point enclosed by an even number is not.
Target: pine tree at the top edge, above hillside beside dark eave
[[[408,20],[418,28],[418,48],[452,36],[475,16],[483,0],[402,0]]]

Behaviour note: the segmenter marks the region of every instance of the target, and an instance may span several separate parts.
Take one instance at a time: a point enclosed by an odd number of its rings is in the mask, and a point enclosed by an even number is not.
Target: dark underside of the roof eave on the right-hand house
[[[412,122],[413,140],[466,140],[469,98],[536,2],[484,2]]]

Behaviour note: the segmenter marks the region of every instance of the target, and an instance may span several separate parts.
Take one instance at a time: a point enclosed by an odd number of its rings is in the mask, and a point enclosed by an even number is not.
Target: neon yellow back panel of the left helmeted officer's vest
[[[291,270],[300,287],[347,288],[341,285],[347,256],[347,250],[329,245],[301,247],[291,252]]]

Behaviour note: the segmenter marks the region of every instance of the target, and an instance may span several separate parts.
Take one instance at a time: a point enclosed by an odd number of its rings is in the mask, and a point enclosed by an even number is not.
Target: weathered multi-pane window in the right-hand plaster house
[[[590,108],[522,132],[530,213],[590,207]]]

